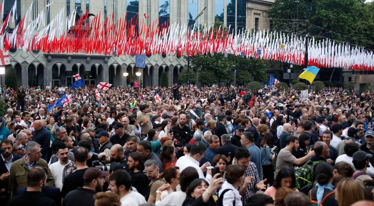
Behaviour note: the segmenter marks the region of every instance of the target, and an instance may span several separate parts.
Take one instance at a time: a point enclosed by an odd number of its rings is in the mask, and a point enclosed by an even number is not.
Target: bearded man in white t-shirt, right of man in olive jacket
[[[71,162],[69,160],[69,149],[65,144],[61,144],[58,147],[58,150],[56,152],[56,156],[59,158],[59,161],[51,164],[49,166],[50,172],[53,175],[53,178],[55,179],[55,186],[60,188],[62,190],[62,176],[64,168],[67,164]]]

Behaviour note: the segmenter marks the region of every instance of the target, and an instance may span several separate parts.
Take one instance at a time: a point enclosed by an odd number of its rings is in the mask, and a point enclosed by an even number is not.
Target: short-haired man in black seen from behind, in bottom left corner
[[[56,203],[42,193],[42,190],[47,185],[46,172],[35,167],[31,169],[27,174],[27,189],[23,194],[15,196],[8,202],[8,205],[12,206],[56,206]]]

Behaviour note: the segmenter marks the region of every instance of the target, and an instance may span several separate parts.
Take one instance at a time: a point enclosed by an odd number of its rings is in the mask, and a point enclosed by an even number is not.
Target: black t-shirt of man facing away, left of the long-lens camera
[[[62,186],[61,190],[61,197],[65,197],[66,194],[77,189],[78,187],[83,187],[83,184],[85,183],[83,175],[87,169],[88,167],[81,170],[74,170],[73,173],[65,177],[63,180],[64,185]]]

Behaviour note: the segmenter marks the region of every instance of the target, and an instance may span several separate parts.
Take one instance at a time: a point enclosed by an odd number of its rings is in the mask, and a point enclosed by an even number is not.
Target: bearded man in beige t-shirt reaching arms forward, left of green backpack
[[[309,150],[309,153],[301,158],[296,158],[294,155],[292,155],[292,151],[296,151],[299,147],[299,139],[295,136],[288,136],[286,139],[286,147],[281,149],[278,154],[277,158],[277,164],[275,168],[275,178],[278,174],[279,170],[281,170],[283,167],[289,167],[292,168],[292,164],[303,164],[306,162],[310,157],[313,157],[315,155],[314,151],[312,149]]]

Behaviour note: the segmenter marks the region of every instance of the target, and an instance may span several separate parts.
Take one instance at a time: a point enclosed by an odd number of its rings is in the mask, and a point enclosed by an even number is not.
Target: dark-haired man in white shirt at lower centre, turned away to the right
[[[179,167],[182,172],[186,167],[193,167],[199,173],[199,178],[205,179],[203,172],[206,171],[206,167],[210,166],[209,162],[204,163],[201,167],[200,160],[204,157],[206,152],[206,146],[203,142],[195,142],[190,149],[190,153],[180,157],[175,163],[175,166]]]

